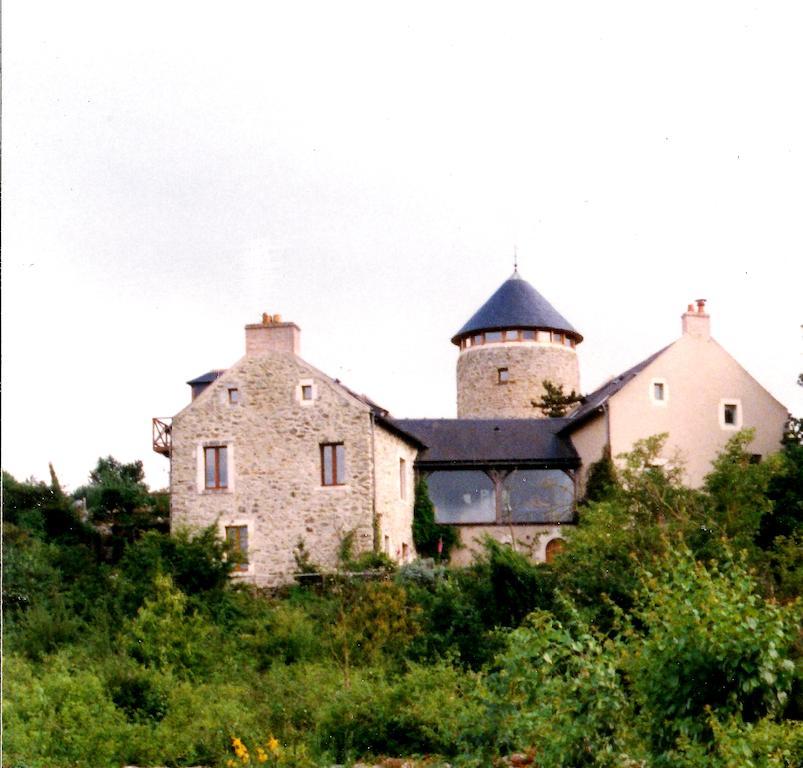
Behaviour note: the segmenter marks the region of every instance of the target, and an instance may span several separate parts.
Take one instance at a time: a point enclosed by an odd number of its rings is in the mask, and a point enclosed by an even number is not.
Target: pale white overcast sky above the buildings
[[[399,417],[519,269],[589,391],[714,337],[797,415],[797,2],[3,4],[2,462],[168,461],[262,312]]]

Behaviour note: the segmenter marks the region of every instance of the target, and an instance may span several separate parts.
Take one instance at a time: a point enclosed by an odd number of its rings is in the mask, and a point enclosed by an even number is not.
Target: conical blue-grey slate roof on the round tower
[[[560,312],[526,280],[519,277],[518,271],[505,280],[496,293],[471,316],[471,319],[452,337],[452,343],[459,344],[463,336],[477,331],[499,331],[505,328],[564,331],[574,336],[577,341],[583,340]]]

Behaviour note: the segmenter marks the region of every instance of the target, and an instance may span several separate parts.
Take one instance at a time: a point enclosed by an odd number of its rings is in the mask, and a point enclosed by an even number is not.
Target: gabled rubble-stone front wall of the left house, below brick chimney
[[[311,401],[302,400],[302,381]],[[345,483],[323,486],[320,445],[337,442]],[[204,490],[204,444],[228,446],[226,490]],[[299,540],[313,562],[334,568],[349,531],[355,552],[373,546],[372,461],[367,406],[294,355],[245,357],[173,419],[171,528],[247,525],[242,577],[259,585],[289,580]]]

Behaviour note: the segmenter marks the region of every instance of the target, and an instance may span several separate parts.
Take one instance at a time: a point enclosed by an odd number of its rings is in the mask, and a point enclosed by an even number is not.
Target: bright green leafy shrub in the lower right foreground
[[[646,636],[633,640],[630,674],[653,751],[681,736],[710,741],[708,711],[747,723],[782,712],[800,605],[762,599],[739,561],[706,567],[689,552],[672,554],[645,577],[635,616]]]

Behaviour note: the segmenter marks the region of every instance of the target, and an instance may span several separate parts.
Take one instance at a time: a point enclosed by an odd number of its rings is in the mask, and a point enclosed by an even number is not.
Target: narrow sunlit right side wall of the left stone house
[[[404,440],[377,426],[374,431],[376,455],[376,508],[379,546],[392,560],[411,560],[413,546],[413,504],[416,450]],[[404,491],[399,460],[404,459]],[[407,556],[405,558],[405,552]]]

